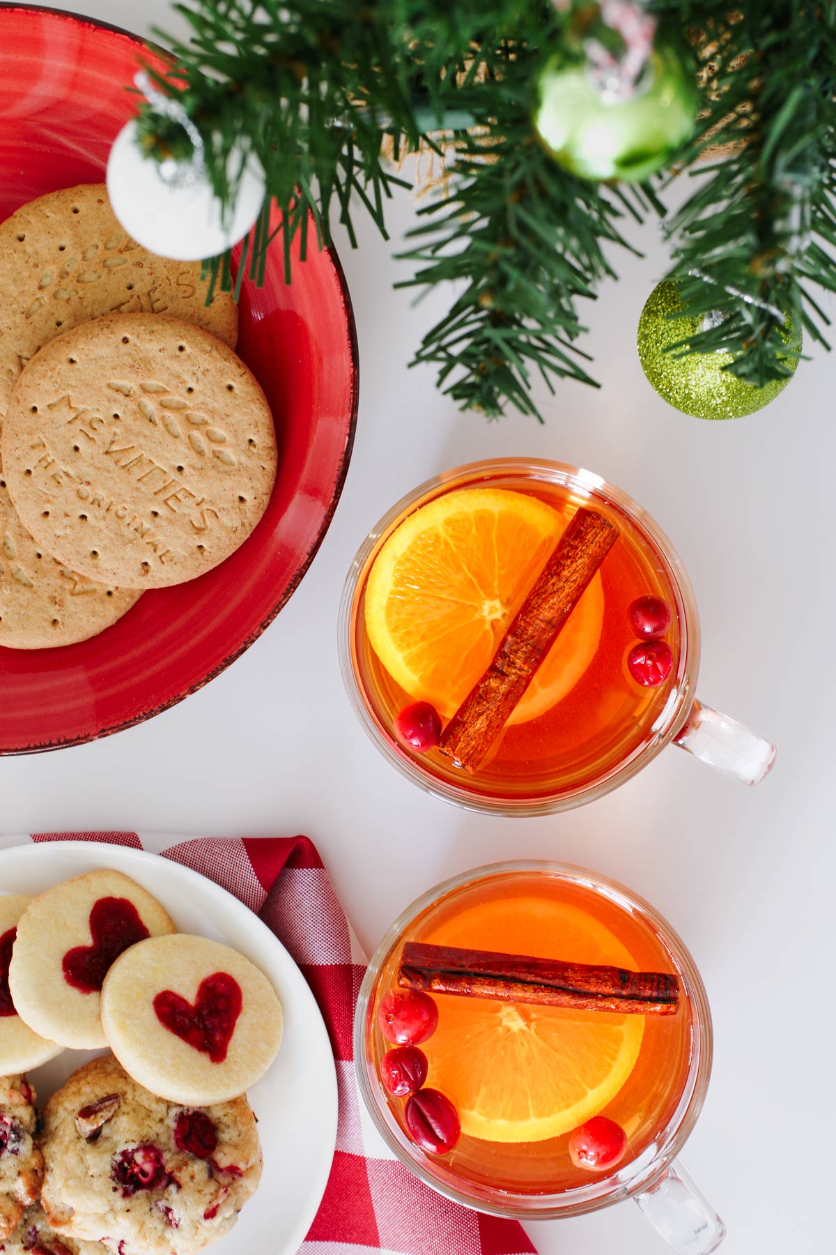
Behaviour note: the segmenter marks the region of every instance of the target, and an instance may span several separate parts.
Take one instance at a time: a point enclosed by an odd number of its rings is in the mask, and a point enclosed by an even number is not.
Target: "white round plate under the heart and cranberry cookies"
[[[147,889],[182,932],[239,950],[276,986],[285,1037],[276,1062],[248,1092],[264,1152],[261,1186],[217,1255],[296,1255],[325,1194],[337,1136],[337,1079],[328,1034],[313,994],[285,946],[238,899],[168,858],[88,841],[55,841],[0,851],[0,894],[40,894],[97,867],[124,872]],[[39,1102],[95,1053],[65,1050],[36,1068]]]

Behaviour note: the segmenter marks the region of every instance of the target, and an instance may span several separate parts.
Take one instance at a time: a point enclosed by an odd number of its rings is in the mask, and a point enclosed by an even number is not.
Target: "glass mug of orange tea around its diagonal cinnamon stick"
[[[610,525],[614,542],[496,739],[462,766],[445,752],[456,712],[491,680],[515,616],[582,511]],[[385,757],[471,809],[579,806],[671,743],[747,784],[775,759],[768,740],[697,700],[699,621],[671,541],[627,493],[556,462],[474,463],[397,502],[351,566],[340,656],[355,712]]]

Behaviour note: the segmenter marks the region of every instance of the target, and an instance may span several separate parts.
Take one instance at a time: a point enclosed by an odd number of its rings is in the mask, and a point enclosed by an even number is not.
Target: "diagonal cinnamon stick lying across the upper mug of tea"
[[[439,749],[474,772],[534,679],[587,585],[618,540],[618,528],[580,508],[520,606],[490,666],[444,729]]]

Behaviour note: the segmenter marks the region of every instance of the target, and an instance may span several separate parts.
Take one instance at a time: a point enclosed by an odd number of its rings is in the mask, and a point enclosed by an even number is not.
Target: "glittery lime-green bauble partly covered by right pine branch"
[[[785,379],[771,379],[762,388],[756,388],[745,379],[738,379],[731,370],[722,368],[732,360],[731,353],[712,350],[711,353],[691,353],[679,358],[666,353],[668,345],[686,340],[701,330],[702,319],[668,319],[682,309],[676,284],[662,282],[651,292],[638,329],[638,349],[644,374],[648,376],[659,397],[683,414],[694,418],[742,418],[762,409],[778,395],[790,383]],[[787,325],[785,339],[793,351],[801,348],[798,328]],[[783,364],[795,371],[798,360],[787,355]]]

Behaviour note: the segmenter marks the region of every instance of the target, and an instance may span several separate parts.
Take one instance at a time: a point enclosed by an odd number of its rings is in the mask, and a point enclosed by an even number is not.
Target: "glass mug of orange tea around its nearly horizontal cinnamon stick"
[[[405,943],[577,963],[623,965],[628,959],[632,970],[638,965],[674,974],[678,1008],[676,1015],[615,1015],[434,991],[436,1025],[430,1025],[429,1037],[417,1035],[429,1060],[417,1096],[431,1091],[457,1104],[461,1133],[452,1150],[425,1153],[412,1136],[411,1097],[392,1094],[391,1082],[387,1089],[381,1079],[385,1054],[394,1049],[391,1032],[381,1032],[385,999],[392,990],[404,995],[399,973],[406,963]],[[584,1060],[585,1112],[573,1106],[573,1093],[543,1098],[551,1074],[536,1071],[545,1057],[554,1076],[574,1076],[573,1052]],[[671,925],[622,885],[563,863],[509,862],[430,890],[392,924],[368,964],[355,1013],[353,1053],[362,1099],[385,1142],[445,1197],[523,1221],[577,1216],[633,1197],[679,1255],[708,1255],[723,1240],[722,1220],[676,1162],[711,1074],[706,990]],[[549,1102],[556,1117],[549,1114]],[[513,1126],[514,1112],[524,1124]],[[575,1133],[569,1126],[602,1113],[623,1128],[627,1150],[612,1168],[579,1167],[570,1155]],[[536,1140],[525,1141],[533,1119]],[[511,1127],[510,1136],[501,1131]]]

